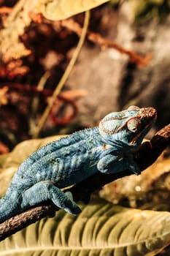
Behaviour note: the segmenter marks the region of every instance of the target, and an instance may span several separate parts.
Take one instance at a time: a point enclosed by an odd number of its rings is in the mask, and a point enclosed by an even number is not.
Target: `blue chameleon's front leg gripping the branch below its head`
[[[129,169],[136,175],[141,173],[139,166],[134,162],[132,157],[117,157],[107,154],[98,161],[98,170],[101,173],[120,173]]]

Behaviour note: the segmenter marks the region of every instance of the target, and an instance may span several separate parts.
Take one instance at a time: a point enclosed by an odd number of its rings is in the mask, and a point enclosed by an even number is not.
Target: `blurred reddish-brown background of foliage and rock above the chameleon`
[[[79,40],[61,21],[29,12],[27,22],[16,11],[18,2],[0,1],[1,153],[34,136]],[[14,7],[15,15],[7,23]],[[39,137],[96,126],[107,113],[129,105],[158,110],[158,121],[149,136],[169,124],[169,10],[169,1],[163,0],[109,1],[91,10],[91,32],[143,61],[86,38]],[[72,20],[82,27],[84,14],[74,15]],[[15,21],[19,25],[13,26]]]

